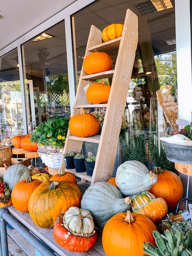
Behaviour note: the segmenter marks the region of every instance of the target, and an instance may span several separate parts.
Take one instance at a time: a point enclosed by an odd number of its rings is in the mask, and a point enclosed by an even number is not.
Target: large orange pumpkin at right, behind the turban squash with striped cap
[[[157,175],[157,182],[150,192],[155,197],[161,197],[167,203],[168,210],[176,209],[178,201],[183,197],[183,184],[179,177],[172,171],[161,170],[161,167],[155,167],[154,173]]]

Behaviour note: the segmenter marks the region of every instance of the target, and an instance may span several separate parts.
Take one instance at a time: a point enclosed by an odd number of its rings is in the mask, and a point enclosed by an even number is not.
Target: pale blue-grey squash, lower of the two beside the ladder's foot
[[[103,229],[107,220],[131,208],[131,198],[124,198],[121,191],[107,182],[96,182],[82,196],[81,208],[90,211],[95,226]]]

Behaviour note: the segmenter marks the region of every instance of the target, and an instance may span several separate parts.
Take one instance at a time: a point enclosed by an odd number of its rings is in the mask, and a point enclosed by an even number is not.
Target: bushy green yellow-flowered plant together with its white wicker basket
[[[38,142],[39,156],[49,168],[60,168],[68,127],[69,118],[54,117],[39,124],[30,136],[32,142]]]

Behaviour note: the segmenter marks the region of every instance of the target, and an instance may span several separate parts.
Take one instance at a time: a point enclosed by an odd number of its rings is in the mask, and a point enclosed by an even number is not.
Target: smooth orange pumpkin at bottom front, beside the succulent
[[[103,229],[102,244],[107,256],[142,256],[143,242],[154,246],[152,231],[157,230],[154,223],[141,214],[117,213],[110,218]]]

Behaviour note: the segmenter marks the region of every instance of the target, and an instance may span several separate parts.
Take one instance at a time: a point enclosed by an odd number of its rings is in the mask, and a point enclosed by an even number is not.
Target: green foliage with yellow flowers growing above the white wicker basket
[[[38,142],[40,146],[63,148],[68,127],[69,118],[50,118],[47,122],[39,124],[36,127],[35,132],[31,134],[30,140],[32,142]]]

